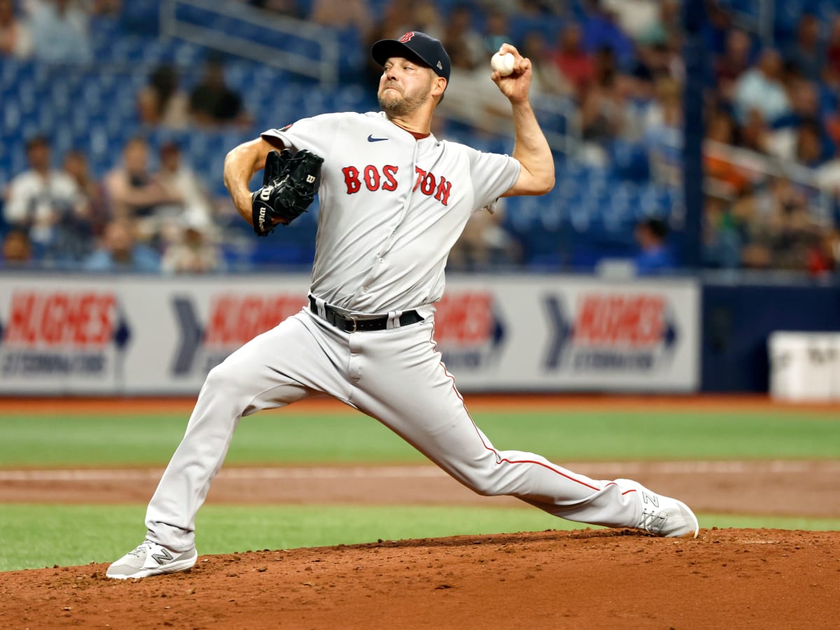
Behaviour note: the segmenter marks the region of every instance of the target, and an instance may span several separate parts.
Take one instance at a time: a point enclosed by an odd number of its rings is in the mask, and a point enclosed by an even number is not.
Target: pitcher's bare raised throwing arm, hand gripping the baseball
[[[522,165],[519,177],[502,197],[514,195],[544,195],[554,188],[554,156],[537,117],[533,113],[528,92],[531,88],[531,60],[519,54],[510,44],[502,44],[501,52],[512,53],[513,71],[501,76],[494,71],[491,79],[511,102],[516,139],[513,157]]]

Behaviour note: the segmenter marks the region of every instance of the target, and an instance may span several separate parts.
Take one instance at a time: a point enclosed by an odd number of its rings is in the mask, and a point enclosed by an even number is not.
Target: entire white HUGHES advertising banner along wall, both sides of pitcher
[[[307,276],[0,276],[0,394],[197,393],[307,303]],[[462,391],[696,391],[693,281],[450,278],[435,339]]]

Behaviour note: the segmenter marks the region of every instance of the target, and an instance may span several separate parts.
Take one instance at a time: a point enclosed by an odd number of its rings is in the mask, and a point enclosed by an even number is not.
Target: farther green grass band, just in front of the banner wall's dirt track
[[[476,413],[499,449],[555,461],[837,459],[840,422],[782,412]],[[0,466],[162,465],[186,417],[0,414]],[[263,412],[244,418],[227,463],[417,462],[423,457],[357,412]]]

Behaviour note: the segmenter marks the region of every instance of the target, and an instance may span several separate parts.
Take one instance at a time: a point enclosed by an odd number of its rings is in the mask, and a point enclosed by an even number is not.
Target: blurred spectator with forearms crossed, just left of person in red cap
[[[139,222],[144,239],[160,245],[159,212],[180,206],[183,197],[150,171],[149,144],[134,137],[123,147],[123,163],[105,176],[105,191],[113,218]]]

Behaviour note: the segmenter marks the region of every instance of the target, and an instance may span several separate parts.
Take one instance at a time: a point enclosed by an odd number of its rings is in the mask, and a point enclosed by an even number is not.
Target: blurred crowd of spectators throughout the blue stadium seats
[[[488,59],[502,41],[512,41],[533,62],[533,97],[573,104],[580,144],[571,158],[608,165],[620,140],[643,147],[654,181],[681,184],[685,67],[677,0],[588,0],[578,3],[578,13],[564,0],[391,0],[381,14],[367,0],[247,3],[352,30],[365,46],[407,29],[438,37],[452,57],[442,119],[471,120],[479,128],[488,120],[510,124],[506,99],[488,81]],[[814,212],[814,204],[819,198],[822,207],[826,200],[833,207],[840,197],[840,16],[829,24],[803,13],[790,37],[770,46],[734,24],[725,8],[707,4],[706,138],[718,149],[736,148],[766,162],[756,168],[754,160],[744,165],[727,150],[706,154],[705,264],[833,270],[840,266],[840,236],[832,216]],[[0,0],[0,54],[87,63],[89,19],[122,10],[119,0]],[[513,36],[512,18],[521,24],[522,16],[535,23],[563,19],[555,32]],[[181,85],[175,66],[145,71],[149,81],[136,107],[146,127],[248,129],[253,122],[249,103],[226,85],[222,57],[208,56],[192,87]],[[381,69],[370,61],[365,71],[373,91]],[[435,132],[445,135],[445,129]],[[29,169],[3,196],[0,264],[224,270],[215,228],[224,202],[207,193],[178,144],[150,155],[142,135],[129,139],[98,180],[82,152],[53,155],[48,129],[28,139],[26,152]],[[640,273],[679,265],[668,232],[667,219],[638,224]],[[517,248],[504,233],[501,213],[476,215],[451,265],[471,268],[494,255],[515,263]]]

